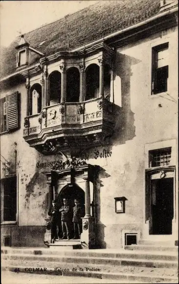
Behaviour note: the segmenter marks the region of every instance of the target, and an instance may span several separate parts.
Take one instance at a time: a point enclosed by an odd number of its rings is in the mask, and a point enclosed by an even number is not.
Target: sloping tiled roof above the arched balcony
[[[46,55],[71,50],[148,19],[159,12],[160,0],[99,1],[54,23],[24,34],[25,40]],[[16,71],[20,37],[1,51],[1,77]]]

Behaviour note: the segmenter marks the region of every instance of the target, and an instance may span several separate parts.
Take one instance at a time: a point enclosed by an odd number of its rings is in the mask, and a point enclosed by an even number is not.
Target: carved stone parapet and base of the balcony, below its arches
[[[47,106],[24,118],[23,138],[44,154],[102,143],[112,135],[113,104],[104,98]]]

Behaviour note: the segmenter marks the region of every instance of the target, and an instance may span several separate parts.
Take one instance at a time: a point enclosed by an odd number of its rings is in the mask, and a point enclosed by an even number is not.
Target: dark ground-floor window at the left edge
[[[9,177],[0,182],[1,221],[16,221],[17,213],[17,177]]]

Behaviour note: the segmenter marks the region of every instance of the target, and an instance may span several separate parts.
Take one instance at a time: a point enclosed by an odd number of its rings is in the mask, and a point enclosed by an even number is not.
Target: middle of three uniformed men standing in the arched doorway
[[[67,198],[63,199],[64,206],[59,209],[59,212],[62,213],[61,221],[62,221],[62,232],[63,237],[61,239],[70,239],[69,237],[69,222],[70,222],[70,207],[68,205]]]

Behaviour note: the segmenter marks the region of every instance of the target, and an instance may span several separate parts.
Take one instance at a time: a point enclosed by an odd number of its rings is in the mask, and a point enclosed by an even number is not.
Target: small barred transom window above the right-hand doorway
[[[171,147],[149,151],[149,167],[169,166],[171,161]]]

